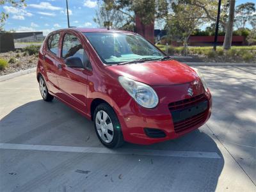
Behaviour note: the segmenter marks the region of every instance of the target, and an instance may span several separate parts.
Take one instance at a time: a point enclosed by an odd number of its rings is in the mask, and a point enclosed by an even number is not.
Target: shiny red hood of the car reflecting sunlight
[[[195,70],[174,60],[111,65],[108,69],[118,76],[150,85],[184,84],[198,79]]]

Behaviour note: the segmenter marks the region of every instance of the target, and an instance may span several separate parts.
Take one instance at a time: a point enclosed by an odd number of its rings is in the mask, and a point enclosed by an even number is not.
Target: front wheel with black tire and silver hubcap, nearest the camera
[[[95,132],[104,146],[118,148],[124,144],[120,123],[115,111],[108,104],[102,103],[97,106],[93,114],[93,124]]]

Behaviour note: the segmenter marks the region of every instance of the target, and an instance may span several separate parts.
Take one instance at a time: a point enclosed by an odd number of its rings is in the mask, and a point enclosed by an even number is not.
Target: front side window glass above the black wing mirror
[[[79,39],[70,34],[64,36],[63,45],[62,45],[61,56],[66,59],[70,56],[78,57],[82,60],[84,68],[92,68],[90,61],[86,52],[83,49],[83,46]]]

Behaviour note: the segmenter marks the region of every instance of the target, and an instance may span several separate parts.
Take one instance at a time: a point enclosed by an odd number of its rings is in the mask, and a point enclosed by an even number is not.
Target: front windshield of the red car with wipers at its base
[[[140,35],[100,32],[88,32],[84,35],[97,51],[102,62],[107,65],[132,62],[133,60],[160,60],[164,57],[161,51]]]

